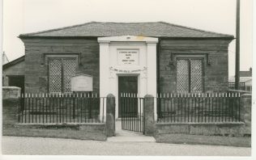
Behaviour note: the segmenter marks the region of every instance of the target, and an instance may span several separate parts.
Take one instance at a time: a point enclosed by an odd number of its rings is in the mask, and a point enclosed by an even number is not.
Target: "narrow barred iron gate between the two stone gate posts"
[[[144,134],[144,99],[137,94],[121,93],[122,129]]]

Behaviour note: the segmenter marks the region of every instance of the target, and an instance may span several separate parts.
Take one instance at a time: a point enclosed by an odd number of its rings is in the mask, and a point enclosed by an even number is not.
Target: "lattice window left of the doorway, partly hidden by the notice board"
[[[70,92],[70,78],[75,75],[76,58],[49,58],[49,92]]]

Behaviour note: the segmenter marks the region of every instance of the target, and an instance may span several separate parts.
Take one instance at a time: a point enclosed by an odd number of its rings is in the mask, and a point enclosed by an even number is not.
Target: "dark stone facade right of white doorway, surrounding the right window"
[[[177,68],[175,58],[180,55],[201,55],[205,92],[228,90],[228,44],[230,40],[160,40],[159,91],[176,92]],[[207,56],[210,64],[207,64]],[[172,58],[173,63],[172,63]]]

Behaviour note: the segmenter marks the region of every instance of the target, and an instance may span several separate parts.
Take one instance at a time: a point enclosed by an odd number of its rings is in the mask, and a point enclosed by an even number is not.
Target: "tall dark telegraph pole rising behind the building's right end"
[[[240,0],[237,0],[237,27],[236,27],[236,80],[235,89],[239,89],[240,82]]]

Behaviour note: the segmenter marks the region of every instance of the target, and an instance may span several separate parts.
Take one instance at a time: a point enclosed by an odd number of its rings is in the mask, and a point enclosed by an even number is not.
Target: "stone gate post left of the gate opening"
[[[113,137],[115,135],[115,96],[109,94],[107,96],[107,105],[106,105],[106,128],[107,128],[107,137]]]

